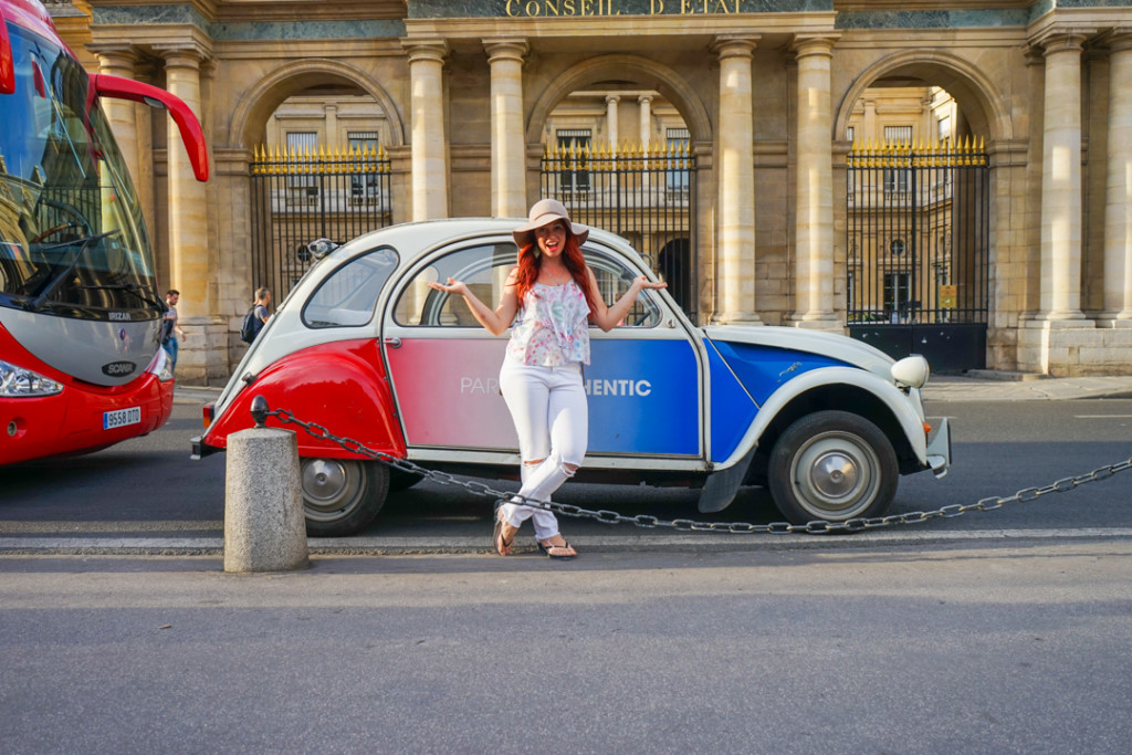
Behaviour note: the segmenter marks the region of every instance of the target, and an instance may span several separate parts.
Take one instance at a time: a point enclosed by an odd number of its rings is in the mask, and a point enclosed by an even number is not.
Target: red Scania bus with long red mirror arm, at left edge
[[[40,2],[0,0],[0,464],[97,451],[172,412],[164,299],[102,97],[165,108],[207,180],[188,105],[88,74]]]

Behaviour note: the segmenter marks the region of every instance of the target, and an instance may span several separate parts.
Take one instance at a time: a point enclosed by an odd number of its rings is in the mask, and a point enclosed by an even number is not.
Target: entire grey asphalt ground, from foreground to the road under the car
[[[904,478],[898,511],[1132,455],[1127,400],[931,410],[955,423],[954,466]],[[220,537],[224,460],[188,460],[197,428],[181,404],[151,438],[0,470],[0,541]],[[354,540],[482,550],[229,575],[215,555],[0,549],[0,752],[1123,754],[1130,488],[886,540],[565,522],[565,564],[484,555],[490,503],[432,484]],[[558,498],[695,511],[681,490]],[[751,490],[720,518],[778,517]]]

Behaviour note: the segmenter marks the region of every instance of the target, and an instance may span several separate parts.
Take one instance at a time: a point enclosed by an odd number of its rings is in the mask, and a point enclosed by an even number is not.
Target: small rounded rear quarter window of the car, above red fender
[[[310,328],[360,327],[374,318],[374,307],[397,252],[375,249],[342,265],[323,281],[302,308],[302,323]]]

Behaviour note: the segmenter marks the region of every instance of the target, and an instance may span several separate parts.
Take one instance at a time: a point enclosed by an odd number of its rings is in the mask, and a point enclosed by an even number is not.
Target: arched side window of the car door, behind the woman
[[[633,284],[634,273],[612,256],[583,249],[586,265],[598,278],[598,289],[611,306]],[[421,327],[480,327],[463,297],[453,297],[428,286],[429,281],[463,281],[475,297],[492,309],[503,297],[504,285],[518,258],[515,244],[500,242],[460,249],[420,271],[404,288],[394,308],[398,325]],[[654,327],[661,320],[660,306],[651,291],[642,291],[633,309],[620,323],[628,327]]]

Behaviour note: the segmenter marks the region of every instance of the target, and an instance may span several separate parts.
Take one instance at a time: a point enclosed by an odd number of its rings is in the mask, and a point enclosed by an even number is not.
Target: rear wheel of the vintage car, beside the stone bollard
[[[365,530],[389,491],[385,465],[350,458],[303,458],[299,479],[307,533],[318,538]]]

